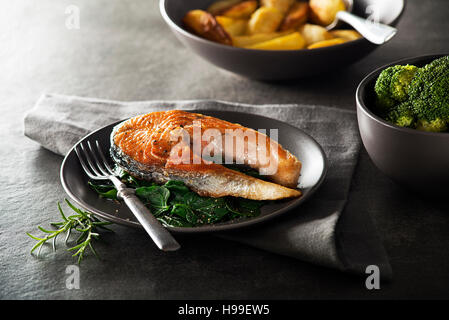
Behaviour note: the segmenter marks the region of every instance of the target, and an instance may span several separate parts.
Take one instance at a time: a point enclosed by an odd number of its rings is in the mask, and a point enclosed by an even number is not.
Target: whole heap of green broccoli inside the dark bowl
[[[400,127],[430,132],[449,129],[449,56],[418,67],[393,65],[374,86],[376,111]]]

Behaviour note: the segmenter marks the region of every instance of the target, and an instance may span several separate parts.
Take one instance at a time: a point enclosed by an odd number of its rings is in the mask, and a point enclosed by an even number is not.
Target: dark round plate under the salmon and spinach
[[[168,229],[170,231],[182,233],[222,231],[266,221],[302,204],[315,192],[323,181],[327,170],[325,154],[321,146],[303,131],[284,122],[253,114],[203,110],[201,113],[230,122],[240,123],[249,128],[267,129],[267,132],[269,132],[269,129],[278,129],[279,143],[296,155],[302,162],[303,167],[298,181],[298,187],[303,192],[303,195],[300,198],[276,201],[267,204],[262,207],[262,212],[258,217],[193,228],[169,227]],[[109,150],[109,137],[112,128],[117,123],[94,131],[84,137],[81,141],[98,140],[105,151]],[[105,153],[109,154],[108,152]],[[98,194],[88,186],[88,178],[84,174],[73,149],[67,154],[62,163],[61,182],[70,198],[86,210],[118,224],[141,227],[126,205],[100,198]]]

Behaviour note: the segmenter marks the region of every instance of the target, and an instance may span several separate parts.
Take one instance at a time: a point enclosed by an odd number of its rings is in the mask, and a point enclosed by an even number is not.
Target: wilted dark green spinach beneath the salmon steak
[[[128,187],[135,188],[136,195],[162,224],[171,227],[195,227],[258,216],[266,202],[235,197],[203,197],[182,181],[170,180],[157,185],[136,179],[125,171],[117,171],[117,174]],[[89,185],[101,197],[118,200],[117,190],[112,184],[89,181]]]

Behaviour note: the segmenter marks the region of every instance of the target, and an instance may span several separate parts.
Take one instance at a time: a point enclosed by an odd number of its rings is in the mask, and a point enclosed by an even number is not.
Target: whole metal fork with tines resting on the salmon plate
[[[75,147],[76,155],[87,176],[93,180],[111,181],[117,189],[117,197],[126,203],[158,248],[163,251],[178,250],[181,247],[179,243],[139,200],[134,189],[128,188],[116,177],[97,140],[95,140],[95,145],[96,150],[90,141],[87,141],[87,148],[81,142]]]

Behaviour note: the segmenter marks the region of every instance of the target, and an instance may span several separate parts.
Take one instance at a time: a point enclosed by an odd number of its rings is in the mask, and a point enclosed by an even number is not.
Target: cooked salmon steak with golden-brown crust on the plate
[[[301,170],[294,155],[263,133],[199,113],[171,110],[128,119],[114,127],[110,152],[132,176],[183,181],[202,196],[278,200],[301,195],[293,189]],[[213,159],[247,165],[273,182]]]

